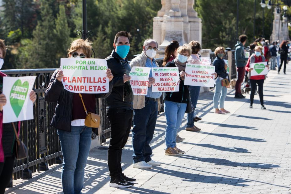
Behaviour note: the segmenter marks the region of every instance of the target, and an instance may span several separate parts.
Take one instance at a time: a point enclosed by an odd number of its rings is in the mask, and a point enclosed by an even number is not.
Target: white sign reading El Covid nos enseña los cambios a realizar
[[[178,67],[154,67],[151,68],[155,83],[152,85],[152,92],[177,92],[179,91]],[[178,86],[178,87],[177,87]]]

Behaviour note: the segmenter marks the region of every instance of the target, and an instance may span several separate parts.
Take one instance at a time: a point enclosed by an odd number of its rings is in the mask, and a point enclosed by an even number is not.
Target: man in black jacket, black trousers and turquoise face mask
[[[115,35],[111,55],[106,58],[114,76],[111,95],[107,97],[106,114],[110,122],[108,168],[110,187],[131,187],[136,179],[126,177],[121,169],[122,148],[129,137],[133,117],[133,92],[130,86],[130,65],[126,58],[131,34],[121,31]]]

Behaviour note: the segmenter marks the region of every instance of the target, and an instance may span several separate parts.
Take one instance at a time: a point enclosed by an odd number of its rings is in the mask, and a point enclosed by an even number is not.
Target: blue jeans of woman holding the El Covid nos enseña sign
[[[164,101],[165,106],[165,115],[166,115],[166,146],[175,147],[176,146],[176,136],[178,129],[181,126],[182,119],[184,117],[187,104],[172,102],[172,101]]]

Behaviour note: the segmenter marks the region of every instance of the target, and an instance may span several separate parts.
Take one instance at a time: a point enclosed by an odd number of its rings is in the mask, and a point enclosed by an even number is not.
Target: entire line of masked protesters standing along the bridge
[[[45,91],[47,102],[57,102],[55,114],[51,120],[51,126],[57,129],[57,134],[61,142],[63,155],[63,166],[61,173],[62,188],[65,194],[79,194],[83,188],[84,172],[87,157],[91,145],[91,127],[84,125],[87,111],[96,113],[96,98],[106,98],[106,114],[110,123],[110,140],[108,147],[108,168],[110,176],[110,187],[131,187],[136,182],[135,178],[127,177],[121,168],[122,150],[128,140],[132,129],[133,147],[133,167],[139,169],[150,169],[160,166],[161,162],[151,158],[152,149],[150,146],[153,139],[158,112],[161,103],[164,104],[166,116],[165,134],[165,155],[181,156],[185,152],[177,147],[177,142],[182,142],[184,138],[178,136],[177,132],[181,126],[185,115],[188,101],[191,101],[194,111],[187,115],[186,131],[199,132],[201,129],[195,122],[201,120],[196,116],[195,109],[200,93],[200,86],[185,85],[187,73],[186,64],[201,64],[199,54],[201,45],[198,41],[191,41],[188,44],[179,45],[173,40],[165,48],[165,57],[162,67],[177,67],[179,71],[179,90],[177,92],[153,92],[152,85],[155,79],[150,72],[148,79],[147,95],[134,95],[130,85],[130,71],[132,67],[159,67],[155,57],[158,51],[158,42],[154,39],[146,39],[142,46],[140,55],[128,61],[127,55],[130,50],[131,34],[126,31],[118,32],[114,37],[111,54],[105,58],[107,62],[106,76],[109,79],[109,91],[102,94],[78,94],[64,89],[62,79],[64,72],[57,69],[50,78],[50,83]],[[263,84],[266,75],[251,75],[253,68],[250,64],[256,62],[268,62],[271,59],[271,70],[275,70],[276,62],[278,73],[284,62],[284,73],[286,73],[286,62],[288,57],[288,42],[283,41],[278,46],[278,42],[272,42],[268,46],[268,41],[259,38],[249,46],[250,56],[245,56],[246,35],[239,37],[239,42],[235,45],[235,63],[237,68],[237,81],[235,85],[235,98],[244,98],[241,92],[241,83],[245,78],[249,79],[251,87],[250,108],[254,101],[254,94],[257,90],[264,107]],[[90,58],[91,42],[89,40],[77,39],[71,42],[68,49],[68,58]],[[0,66],[3,65],[6,47],[4,41],[0,40]],[[278,62],[278,53],[281,64]],[[228,75],[228,65],[223,57],[225,48],[217,47],[214,51],[215,59],[212,65],[215,73],[215,92],[213,96],[214,113],[230,113],[225,109],[225,98],[230,77]],[[1,69],[0,67],[0,69]],[[268,65],[266,65],[268,67]],[[2,110],[6,104],[6,97],[2,94],[3,76],[0,72],[0,194],[5,192],[5,187],[10,181],[14,164],[14,144],[15,137],[11,129],[11,123],[2,123]],[[162,100],[161,100],[162,98]],[[34,91],[30,93],[30,100],[35,101]],[[87,107],[87,110],[86,108]],[[85,108],[85,111],[83,111]],[[20,122],[15,123],[20,127]],[[20,129],[18,127],[18,130]]]

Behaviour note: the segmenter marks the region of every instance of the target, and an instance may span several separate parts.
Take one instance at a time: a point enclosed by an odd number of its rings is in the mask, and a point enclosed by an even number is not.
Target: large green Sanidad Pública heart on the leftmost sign
[[[10,91],[10,104],[11,107],[16,115],[16,117],[19,116],[21,109],[23,107],[24,101],[27,96],[29,83],[28,81],[25,81],[23,84],[21,84],[21,80],[17,80]]]

